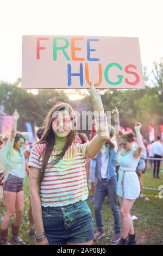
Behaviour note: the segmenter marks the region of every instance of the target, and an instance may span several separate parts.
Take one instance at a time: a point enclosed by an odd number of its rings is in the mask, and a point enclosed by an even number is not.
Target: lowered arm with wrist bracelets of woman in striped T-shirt
[[[33,215],[37,235],[45,232],[43,227],[43,220],[42,220],[39,180],[40,180],[40,169],[30,167],[29,168],[30,202],[31,202],[32,215]],[[48,244],[47,238],[36,244],[38,245]]]

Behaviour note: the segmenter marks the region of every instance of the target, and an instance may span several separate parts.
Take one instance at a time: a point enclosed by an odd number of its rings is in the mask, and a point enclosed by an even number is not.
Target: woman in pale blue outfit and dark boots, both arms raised
[[[135,171],[140,160],[142,148],[144,147],[140,133],[141,124],[135,124],[138,144],[138,148],[135,149],[132,145],[135,136],[133,132],[124,132],[120,136],[120,120],[117,107],[114,109],[113,114],[115,115],[115,133],[119,149],[118,162],[120,163],[117,196],[120,202],[122,217],[121,240],[117,245],[134,245],[136,244],[136,238],[130,210],[136,198],[140,196],[140,182]]]

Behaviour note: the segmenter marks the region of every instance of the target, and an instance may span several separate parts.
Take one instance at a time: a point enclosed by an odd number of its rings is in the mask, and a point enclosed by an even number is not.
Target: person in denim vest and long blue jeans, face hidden
[[[114,235],[112,235],[110,241],[115,243],[120,240],[120,209],[117,201],[117,175],[116,175],[116,163],[117,157],[115,152],[115,145],[111,142],[111,138],[114,136],[114,126],[110,127],[110,139],[105,142],[105,145],[96,156],[96,168],[95,175],[97,179],[95,190],[95,219],[97,231],[95,234],[95,240],[104,236],[104,225],[102,221],[102,206],[106,196],[109,196],[110,208],[114,217]]]

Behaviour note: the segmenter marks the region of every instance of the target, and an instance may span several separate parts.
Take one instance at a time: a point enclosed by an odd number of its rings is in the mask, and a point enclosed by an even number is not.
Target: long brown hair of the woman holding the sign
[[[48,164],[49,157],[51,156],[54,145],[55,145],[55,133],[52,129],[52,122],[53,122],[52,115],[54,112],[58,112],[64,109],[68,109],[71,120],[73,120],[74,122],[73,123],[74,129],[71,130],[71,132],[67,136],[65,147],[62,149],[61,153],[59,153],[58,155],[55,155],[53,161],[51,161],[51,163]],[[43,152],[42,152],[43,159],[42,159],[42,166],[41,166],[40,184],[43,180],[43,176],[45,175],[46,168],[51,168],[52,166],[54,166],[54,164],[57,164],[64,157],[66,150],[74,142],[74,139],[76,138],[76,134],[77,134],[76,114],[74,113],[72,107],[68,103],[57,102],[48,112],[43,126],[44,126],[43,135],[40,141],[37,143],[37,144],[45,144],[45,148],[43,149]]]

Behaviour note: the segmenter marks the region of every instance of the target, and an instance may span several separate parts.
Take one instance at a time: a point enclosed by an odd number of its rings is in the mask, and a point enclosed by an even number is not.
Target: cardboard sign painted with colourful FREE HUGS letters
[[[22,88],[144,89],[138,38],[23,36]]]

